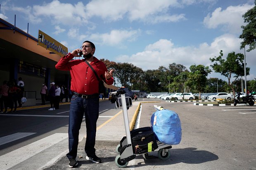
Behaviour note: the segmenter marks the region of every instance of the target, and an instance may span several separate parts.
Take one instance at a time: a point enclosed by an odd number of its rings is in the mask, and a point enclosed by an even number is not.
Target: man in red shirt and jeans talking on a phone
[[[95,45],[90,41],[84,41],[82,49],[76,49],[62,57],[55,65],[56,69],[70,71],[71,91],[73,96],[70,103],[69,113],[69,167],[78,165],[76,161],[79,129],[85,115],[86,123],[86,159],[94,163],[100,163],[101,159],[95,154],[96,122],[99,117],[99,81],[94,72],[85,63],[85,60],[96,71],[98,77],[108,85],[114,83],[113,71],[107,71],[105,64],[93,56]],[[71,60],[83,53],[84,60]]]

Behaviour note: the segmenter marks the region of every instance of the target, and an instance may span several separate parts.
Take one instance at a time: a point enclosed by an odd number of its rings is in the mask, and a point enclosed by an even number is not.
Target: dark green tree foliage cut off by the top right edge
[[[244,23],[247,23],[247,25],[241,26],[242,34],[239,36],[240,39],[243,39],[240,49],[249,45],[248,52],[256,48],[256,0],[254,3],[255,6],[243,15]]]

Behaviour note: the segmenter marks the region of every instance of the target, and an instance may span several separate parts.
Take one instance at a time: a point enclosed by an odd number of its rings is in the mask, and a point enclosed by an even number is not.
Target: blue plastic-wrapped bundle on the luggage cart
[[[157,110],[151,116],[151,128],[156,139],[167,145],[178,145],[181,141],[181,124],[177,113],[172,110]]]

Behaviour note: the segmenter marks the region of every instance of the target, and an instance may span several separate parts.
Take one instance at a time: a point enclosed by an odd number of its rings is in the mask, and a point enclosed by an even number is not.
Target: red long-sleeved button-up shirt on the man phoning
[[[70,71],[71,74],[71,91],[79,94],[91,95],[99,93],[99,81],[97,80],[92,69],[85,63],[85,60],[71,60],[74,56],[69,53],[62,57],[55,65],[55,68],[63,71]],[[100,79],[108,85],[114,83],[114,78],[106,79],[105,71],[107,67],[104,62],[93,57],[90,63]]]

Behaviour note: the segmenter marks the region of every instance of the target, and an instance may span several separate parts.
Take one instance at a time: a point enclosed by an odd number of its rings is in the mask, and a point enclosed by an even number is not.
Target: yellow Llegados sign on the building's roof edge
[[[38,30],[38,45],[47,48],[48,50],[60,56],[64,56],[68,53],[68,48],[41,30]]]

